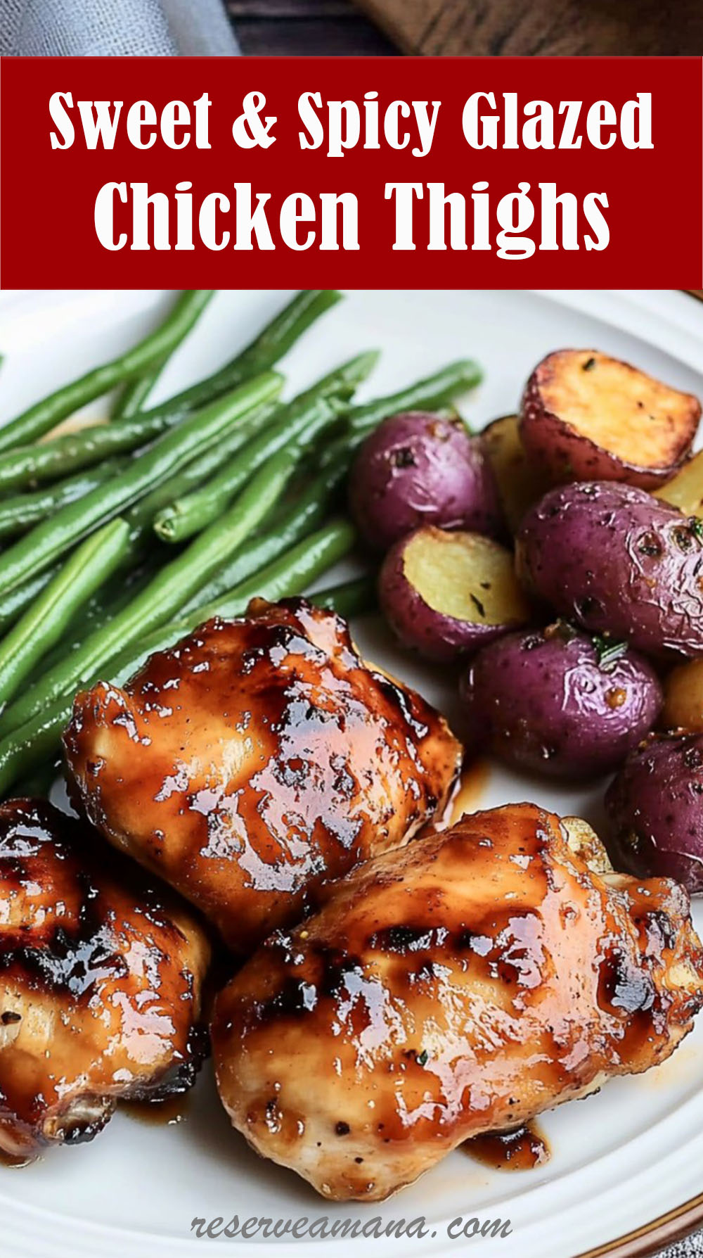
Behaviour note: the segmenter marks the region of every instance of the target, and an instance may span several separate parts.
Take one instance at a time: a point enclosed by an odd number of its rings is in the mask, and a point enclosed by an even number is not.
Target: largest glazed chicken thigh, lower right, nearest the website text
[[[591,872],[532,804],[326,896],[220,993],[211,1038],[234,1126],[329,1198],[382,1200],[468,1138],[648,1069],[703,1005],[685,892]]]

